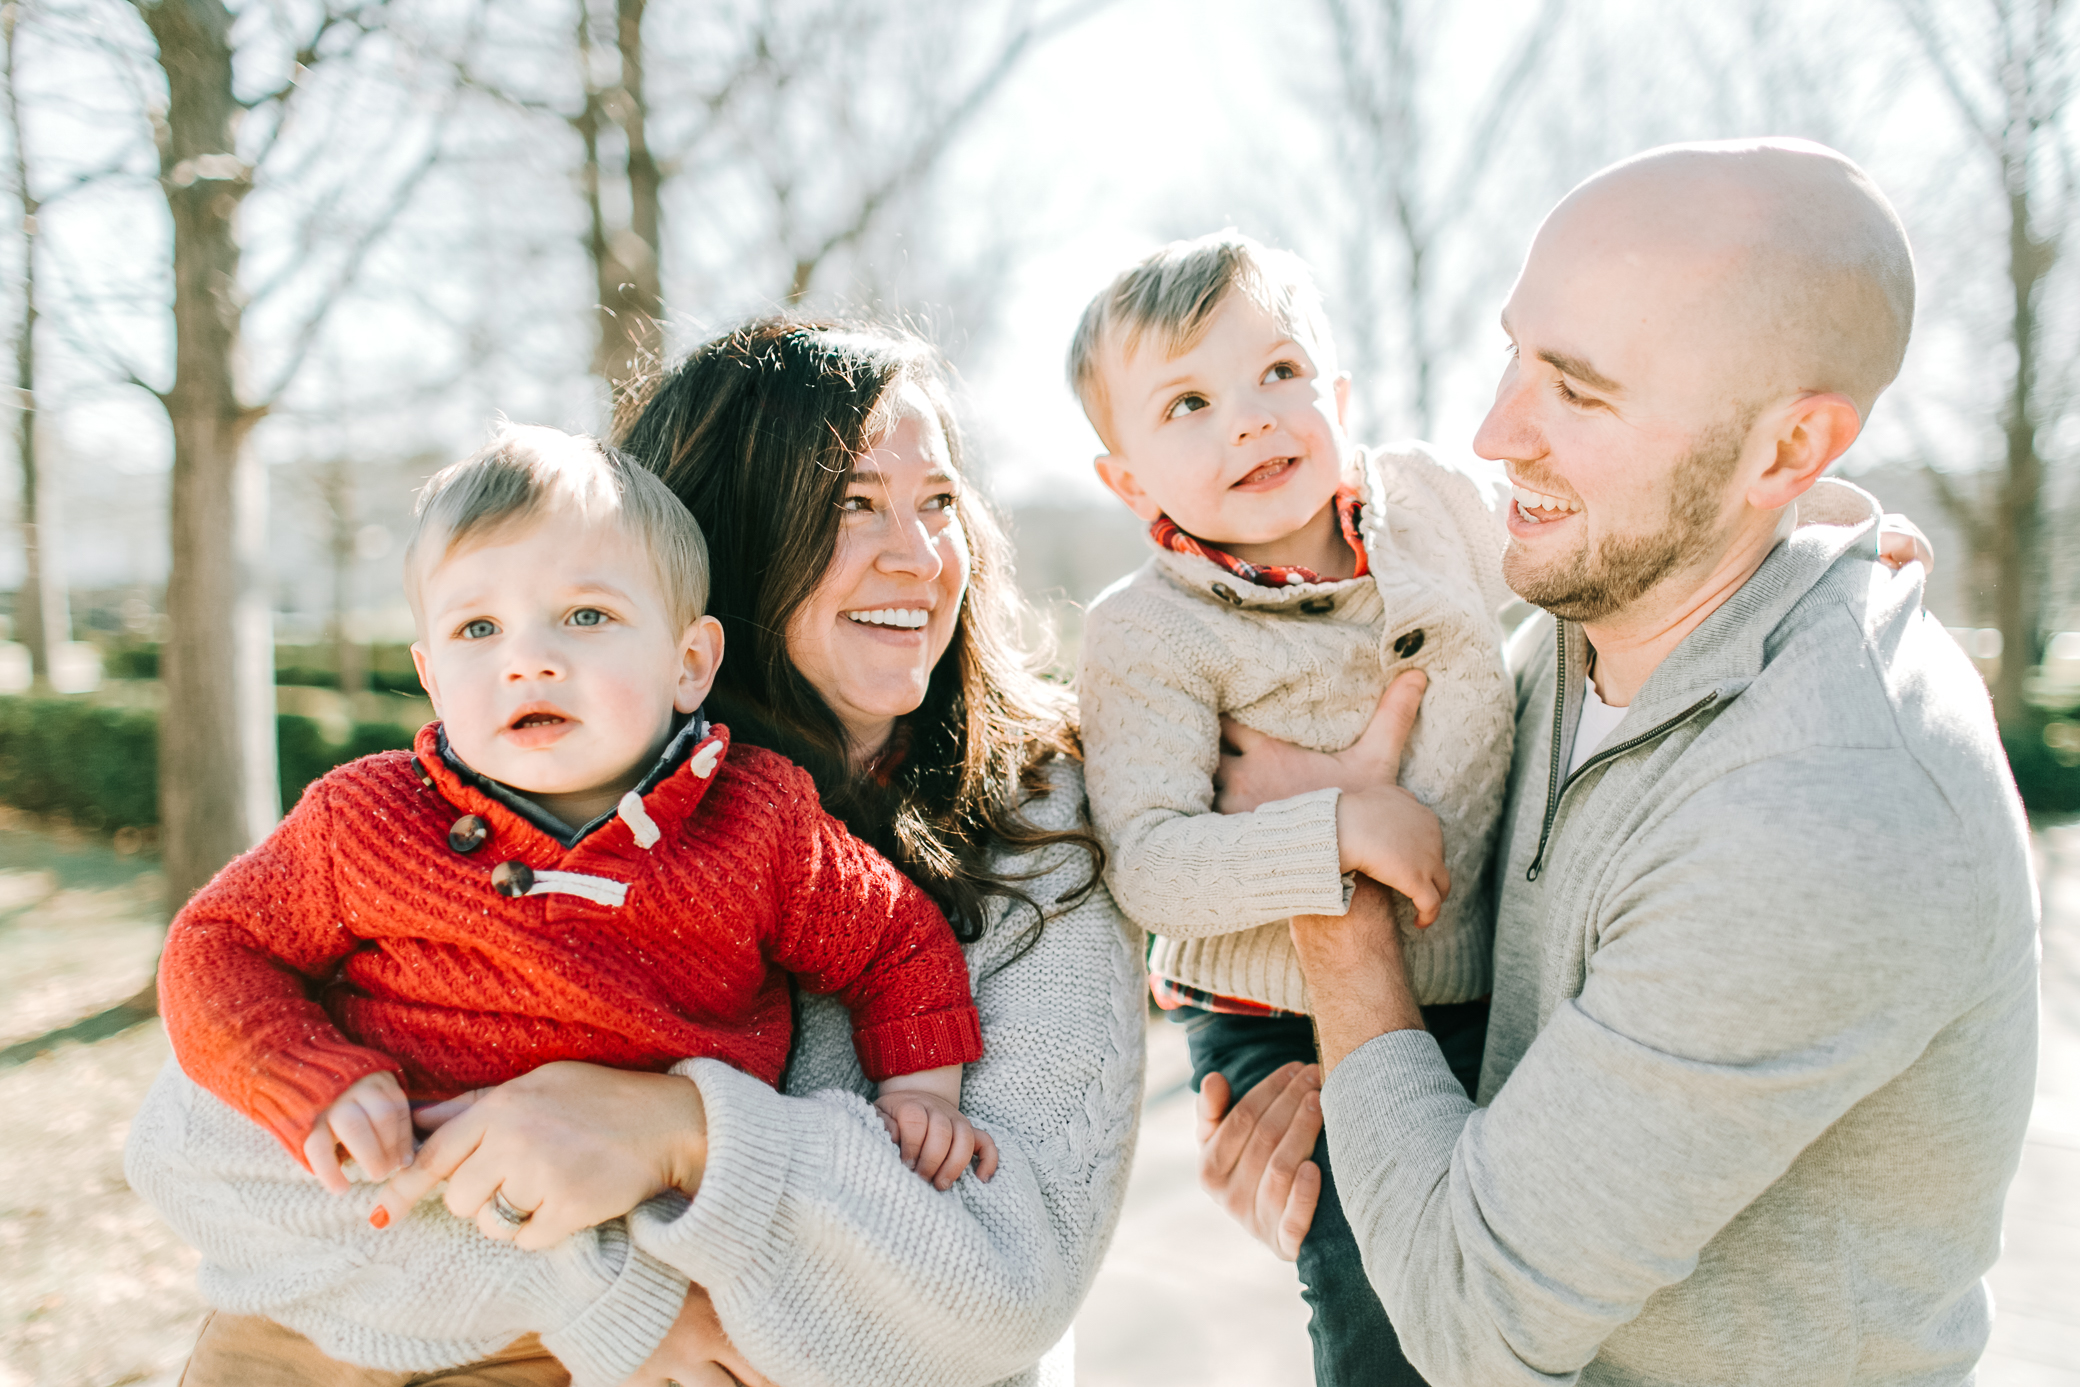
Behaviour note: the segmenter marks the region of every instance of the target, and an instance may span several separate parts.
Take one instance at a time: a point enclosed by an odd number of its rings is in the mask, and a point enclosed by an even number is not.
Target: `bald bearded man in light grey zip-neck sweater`
[[[1899,218],[1818,146],[1649,152],[1531,245],[1475,447],[1556,620],[1512,651],[1481,1106],[1377,909],[1294,921],[1344,1208],[1435,1387],[1972,1379],[2034,1088],[2022,805],[1876,507],[1793,528],[1912,314]],[[1273,1241],[1302,1088],[1206,1144]]]

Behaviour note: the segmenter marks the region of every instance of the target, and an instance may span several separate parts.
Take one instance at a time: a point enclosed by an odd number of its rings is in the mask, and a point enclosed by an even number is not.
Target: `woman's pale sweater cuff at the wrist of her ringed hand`
[[[680,1061],[672,1073],[693,1079],[707,1108],[701,1189],[678,1216],[645,1204],[628,1216],[630,1233],[709,1293],[770,1281],[788,1241],[774,1233],[788,1167],[822,1169],[824,1142],[813,1125],[788,1123],[780,1094],[722,1061]]]

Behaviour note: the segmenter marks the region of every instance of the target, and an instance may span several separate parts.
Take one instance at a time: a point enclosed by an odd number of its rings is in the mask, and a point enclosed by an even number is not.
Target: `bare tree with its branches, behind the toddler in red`
[[[289,44],[281,81],[254,96],[241,94],[235,69],[262,58],[237,52],[237,17],[225,0],[135,4],[164,79],[164,106],[152,110],[152,129],[173,220],[173,383],[154,389],[135,370],[131,381],[158,397],[173,426],[168,638],[160,655],[166,713],[158,769],[166,902],[179,909],[281,813],[266,468],[245,445],[248,435],[293,381],[368,247],[439,156],[439,133],[435,129],[418,160],[393,175],[387,189],[370,187],[366,168],[349,168],[352,187],[316,200],[289,272],[302,268],[314,241],[333,237],[327,283],[300,285],[302,322],[272,381],[250,391],[239,378],[241,322],[252,297],[239,264],[239,204],[254,191],[268,156],[287,148],[291,108],[312,69],[349,58],[379,33],[385,4],[327,10],[308,21]],[[289,23],[279,12],[268,19]],[[254,42],[279,37],[279,31],[262,31]],[[262,121],[250,121],[254,114]],[[241,127],[254,125],[258,137],[241,150]],[[341,229],[337,204],[347,195],[372,212]]]

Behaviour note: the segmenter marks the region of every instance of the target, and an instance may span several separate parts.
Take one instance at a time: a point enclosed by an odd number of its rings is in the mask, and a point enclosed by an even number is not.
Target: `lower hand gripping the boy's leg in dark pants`
[[[1321,1202],[1321,1167],[1308,1160],[1321,1135],[1321,1069],[1283,1065],[1229,1110],[1227,1079],[1211,1073],[1198,1090],[1198,1183],[1250,1237],[1281,1260]]]

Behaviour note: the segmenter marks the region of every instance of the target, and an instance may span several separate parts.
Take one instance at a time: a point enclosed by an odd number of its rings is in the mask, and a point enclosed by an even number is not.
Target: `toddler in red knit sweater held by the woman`
[[[368,1179],[410,1160],[412,1100],[551,1061],[778,1083],[792,975],[851,1009],[905,1162],[988,1179],[953,930],[803,769],[701,717],[722,626],[670,489],[503,428],[426,482],[406,586],[441,722],[312,784],[173,921],[181,1069],[345,1192],[341,1154]]]

